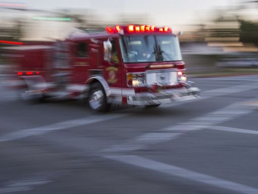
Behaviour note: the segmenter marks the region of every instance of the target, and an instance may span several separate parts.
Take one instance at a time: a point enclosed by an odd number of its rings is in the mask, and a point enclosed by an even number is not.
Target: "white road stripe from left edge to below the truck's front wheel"
[[[0,136],[0,142],[12,141],[12,140],[21,139],[29,136],[34,136],[34,135],[42,135],[44,133],[49,133],[54,130],[61,130],[61,129],[68,129],[68,128],[78,127],[83,125],[89,125],[97,122],[103,122],[103,121],[112,120],[120,117],[125,117],[127,115],[128,114],[89,116],[81,119],[54,123],[54,124],[42,126],[42,127],[24,129],[24,130],[7,133]]]

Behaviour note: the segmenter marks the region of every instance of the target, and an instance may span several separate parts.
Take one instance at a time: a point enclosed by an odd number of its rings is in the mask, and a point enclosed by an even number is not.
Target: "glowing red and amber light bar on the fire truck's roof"
[[[114,27],[106,27],[106,31],[110,34],[119,33],[119,32],[127,32],[127,33],[141,33],[141,32],[161,32],[161,33],[172,33],[171,28],[163,27],[157,28],[155,26],[149,25],[128,25],[128,26],[114,26]]]

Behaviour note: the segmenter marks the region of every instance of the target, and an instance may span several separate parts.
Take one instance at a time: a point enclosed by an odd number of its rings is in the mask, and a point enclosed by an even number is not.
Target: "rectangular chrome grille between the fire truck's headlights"
[[[146,85],[175,85],[177,84],[176,70],[146,71]]]

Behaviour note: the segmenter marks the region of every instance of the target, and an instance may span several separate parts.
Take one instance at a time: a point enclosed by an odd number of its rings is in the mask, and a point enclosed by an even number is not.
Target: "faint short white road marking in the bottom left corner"
[[[32,190],[34,187],[52,182],[48,178],[32,178],[20,181],[9,182],[8,185],[0,188],[0,193],[14,193]]]

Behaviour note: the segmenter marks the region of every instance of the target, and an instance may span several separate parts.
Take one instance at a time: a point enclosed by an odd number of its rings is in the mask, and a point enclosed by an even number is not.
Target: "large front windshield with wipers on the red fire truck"
[[[181,61],[179,42],[173,35],[139,35],[120,38],[124,63]]]

